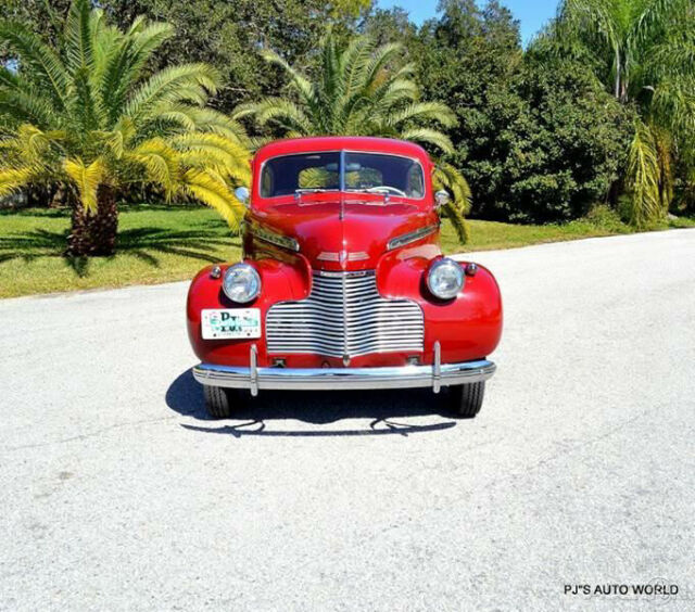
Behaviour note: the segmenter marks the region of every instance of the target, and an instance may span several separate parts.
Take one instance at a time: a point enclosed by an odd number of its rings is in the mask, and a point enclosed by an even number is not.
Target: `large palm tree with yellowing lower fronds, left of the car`
[[[147,72],[172,35],[141,17],[121,31],[89,0],[74,0],[60,49],[0,23],[0,42],[17,59],[17,69],[0,67],[0,196],[66,186],[71,254],[113,252],[117,190],[132,183],[199,200],[237,227],[243,207],[231,186],[249,180],[243,129],[206,106],[218,85],[212,67]]]

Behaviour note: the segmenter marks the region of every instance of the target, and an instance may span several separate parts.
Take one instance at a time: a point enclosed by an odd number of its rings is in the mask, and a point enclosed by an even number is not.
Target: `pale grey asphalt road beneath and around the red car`
[[[506,327],[472,421],[430,392],[210,421],[186,283],[0,301],[0,609],[693,610],[695,230],[475,259]]]

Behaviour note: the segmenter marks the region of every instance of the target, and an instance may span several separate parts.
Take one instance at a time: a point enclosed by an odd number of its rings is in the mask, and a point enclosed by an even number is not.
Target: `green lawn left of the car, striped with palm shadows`
[[[112,257],[64,257],[68,227],[66,211],[0,212],[0,297],[182,280],[241,253],[239,238],[201,207],[124,206]]]

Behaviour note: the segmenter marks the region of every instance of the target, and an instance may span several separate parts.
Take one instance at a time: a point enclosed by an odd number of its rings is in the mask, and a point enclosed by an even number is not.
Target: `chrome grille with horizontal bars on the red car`
[[[409,299],[384,299],[372,270],[315,272],[312,293],[268,309],[268,353],[355,357],[368,353],[421,352],[422,310]]]

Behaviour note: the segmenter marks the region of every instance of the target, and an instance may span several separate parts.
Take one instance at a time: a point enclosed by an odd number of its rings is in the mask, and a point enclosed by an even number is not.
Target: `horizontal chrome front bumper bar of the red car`
[[[442,364],[441,386],[488,380],[496,366],[486,359]],[[250,388],[251,369],[200,364],[193,378],[201,384]],[[432,366],[391,368],[257,368],[260,390],[367,390],[433,386]]]

